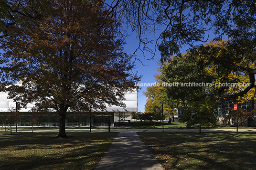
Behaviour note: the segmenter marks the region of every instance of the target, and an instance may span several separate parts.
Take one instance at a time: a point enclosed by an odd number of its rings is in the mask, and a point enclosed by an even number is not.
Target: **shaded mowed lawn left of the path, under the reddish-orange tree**
[[[93,170],[117,132],[1,132],[0,170]]]

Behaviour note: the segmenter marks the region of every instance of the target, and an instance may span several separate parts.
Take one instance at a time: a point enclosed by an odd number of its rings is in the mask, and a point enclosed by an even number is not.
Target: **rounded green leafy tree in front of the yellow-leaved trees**
[[[182,110],[180,121],[190,126],[199,124],[201,127],[216,120],[214,110],[218,99],[212,95],[215,79],[203,64],[207,65],[200,56],[190,52],[174,56],[163,66],[160,77],[166,83],[163,93]]]

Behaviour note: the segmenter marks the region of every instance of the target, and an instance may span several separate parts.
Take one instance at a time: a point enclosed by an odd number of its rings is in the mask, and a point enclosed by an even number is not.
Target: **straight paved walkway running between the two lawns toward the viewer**
[[[95,170],[163,170],[136,132],[119,132]]]

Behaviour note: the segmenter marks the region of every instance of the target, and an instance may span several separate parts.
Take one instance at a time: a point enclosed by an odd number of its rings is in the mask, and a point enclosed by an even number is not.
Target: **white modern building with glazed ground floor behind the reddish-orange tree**
[[[107,106],[107,112],[94,112],[93,114],[83,113],[83,114],[71,114],[66,116],[66,125],[78,125],[78,126],[89,126],[90,123],[93,126],[107,126],[108,120],[110,118],[111,125],[114,126],[114,122],[124,119],[130,120],[131,114],[136,113],[138,110],[138,94],[137,90],[134,92],[128,92],[125,94],[126,100],[123,101],[126,104],[126,108],[119,106]],[[8,99],[8,92],[0,92],[0,114],[8,112],[9,108],[15,108],[16,103],[12,99]],[[29,123],[29,117],[31,113],[29,112],[33,104],[28,104],[27,108],[21,108],[20,110],[20,120],[18,122],[19,126],[31,125]],[[125,115],[125,116],[124,116]],[[91,118],[91,119],[90,119]],[[3,123],[3,122],[2,122]],[[39,123],[36,125],[41,126],[58,126],[59,116],[56,113],[49,112],[45,114],[39,114]]]

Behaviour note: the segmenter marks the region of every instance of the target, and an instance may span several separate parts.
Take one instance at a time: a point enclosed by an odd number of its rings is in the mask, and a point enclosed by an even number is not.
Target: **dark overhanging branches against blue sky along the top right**
[[[86,0],[84,0],[86,1]],[[99,0],[101,1],[101,0]],[[163,59],[179,53],[183,45],[209,38],[232,38],[244,47],[255,47],[255,0],[111,0],[107,15],[123,20],[124,29],[137,33],[139,48],[156,42]],[[160,30],[160,31],[158,31]],[[160,40],[161,39],[161,40]]]

